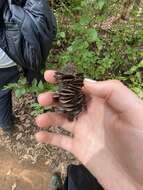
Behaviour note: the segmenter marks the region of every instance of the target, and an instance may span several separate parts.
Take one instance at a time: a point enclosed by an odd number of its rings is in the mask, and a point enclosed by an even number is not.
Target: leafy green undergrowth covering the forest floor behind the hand
[[[50,1],[58,22],[57,39],[46,68],[62,69],[74,63],[86,77],[119,79],[143,97],[143,5],[141,1]],[[19,97],[53,90],[34,80],[10,84]],[[35,113],[41,113],[37,104]],[[43,108],[42,108],[43,109]],[[42,110],[44,111],[44,110]]]

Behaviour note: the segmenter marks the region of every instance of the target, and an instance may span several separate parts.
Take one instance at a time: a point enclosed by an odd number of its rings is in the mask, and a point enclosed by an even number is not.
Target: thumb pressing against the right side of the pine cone
[[[135,109],[138,108],[138,105],[143,104],[136,94],[118,80],[96,82],[85,79],[84,87],[86,93],[92,97],[98,96],[105,99],[118,112]]]

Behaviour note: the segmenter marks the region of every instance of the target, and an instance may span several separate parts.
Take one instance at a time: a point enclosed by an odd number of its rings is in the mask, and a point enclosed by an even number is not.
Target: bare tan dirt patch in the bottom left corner
[[[40,164],[20,164],[14,154],[0,148],[0,189],[48,190],[51,171]]]

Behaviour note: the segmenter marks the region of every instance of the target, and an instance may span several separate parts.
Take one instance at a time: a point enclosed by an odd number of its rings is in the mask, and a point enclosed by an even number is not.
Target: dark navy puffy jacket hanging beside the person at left
[[[56,35],[47,0],[0,1],[0,48],[23,68],[39,71]]]

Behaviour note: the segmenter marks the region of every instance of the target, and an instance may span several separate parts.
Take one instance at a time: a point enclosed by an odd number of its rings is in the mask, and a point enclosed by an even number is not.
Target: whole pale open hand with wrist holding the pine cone
[[[45,79],[56,82],[54,71]],[[61,126],[73,137],[39,132],[39,142],[57,145],[73,153],[105,189],[143,189],[143,102],[119,81],[84,82],[90,97],[87,111],[69,122],[63,115],[37,117],[41,128]],[[38,97],[41,105],[53,103],[53,93]]]

